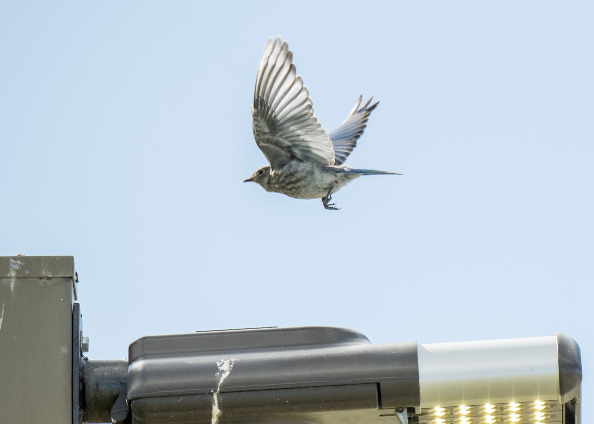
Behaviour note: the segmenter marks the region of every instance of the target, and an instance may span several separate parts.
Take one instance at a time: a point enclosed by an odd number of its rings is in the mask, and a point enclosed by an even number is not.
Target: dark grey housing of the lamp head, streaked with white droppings
[[[420,404],[416,343],[328,327],[143,337],[127,398],[135,424],[386,422]]]

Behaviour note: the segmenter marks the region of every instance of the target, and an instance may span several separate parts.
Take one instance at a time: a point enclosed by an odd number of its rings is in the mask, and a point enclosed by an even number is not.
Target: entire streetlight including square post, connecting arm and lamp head
[[[83,353],[72,257],[0,257],[0,416],[44,424],[579,424],[570,337],[372,344],[344,328],[142,337]]]

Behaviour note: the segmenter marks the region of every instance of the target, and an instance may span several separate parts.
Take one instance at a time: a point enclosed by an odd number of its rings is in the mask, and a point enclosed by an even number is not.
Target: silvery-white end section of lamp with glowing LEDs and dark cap
[[[579,400],[579,347],[564,334],[419,344],[418,360],[422,424],[563,423]]]

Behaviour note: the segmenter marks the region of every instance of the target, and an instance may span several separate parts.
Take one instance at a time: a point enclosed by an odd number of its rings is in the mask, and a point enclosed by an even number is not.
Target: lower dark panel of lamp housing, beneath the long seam
[[[397,423],[395,411],[378,410],[374,384],[222,393],[218,404],[220,414],[213,394],[137,399],[133,423]]]

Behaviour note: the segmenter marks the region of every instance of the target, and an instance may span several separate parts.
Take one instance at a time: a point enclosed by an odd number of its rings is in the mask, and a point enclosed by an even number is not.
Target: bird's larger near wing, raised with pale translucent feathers
[[[256,144],[272,169],[292,159],[333,165],[332,142],[314,115],[307,87],[292,59],[286,42],[280,37],[268,39],[258,65],[252,106]]]

